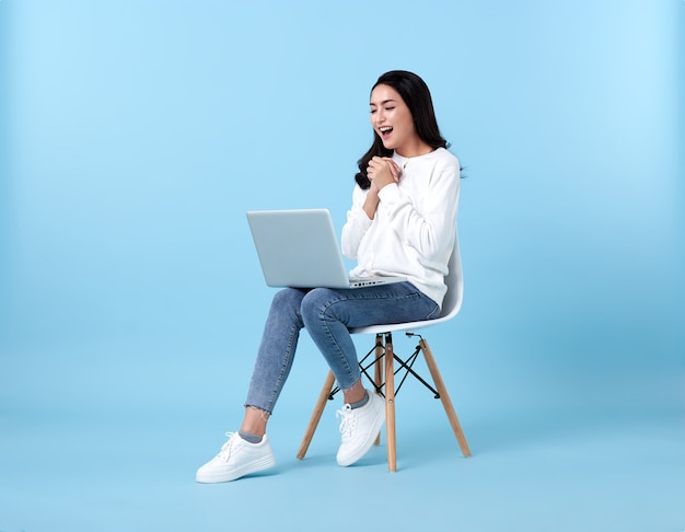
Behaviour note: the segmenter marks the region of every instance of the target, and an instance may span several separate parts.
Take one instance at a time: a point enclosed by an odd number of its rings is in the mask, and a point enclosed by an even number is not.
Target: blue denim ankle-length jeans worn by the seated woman
[[[348,327],[439,315],[438,304],[406,281],[355,289],[281,290],[271,302],[245,406],[274,412],[303,327],[328,362],[338,385],[348,390],[361,378]]]

